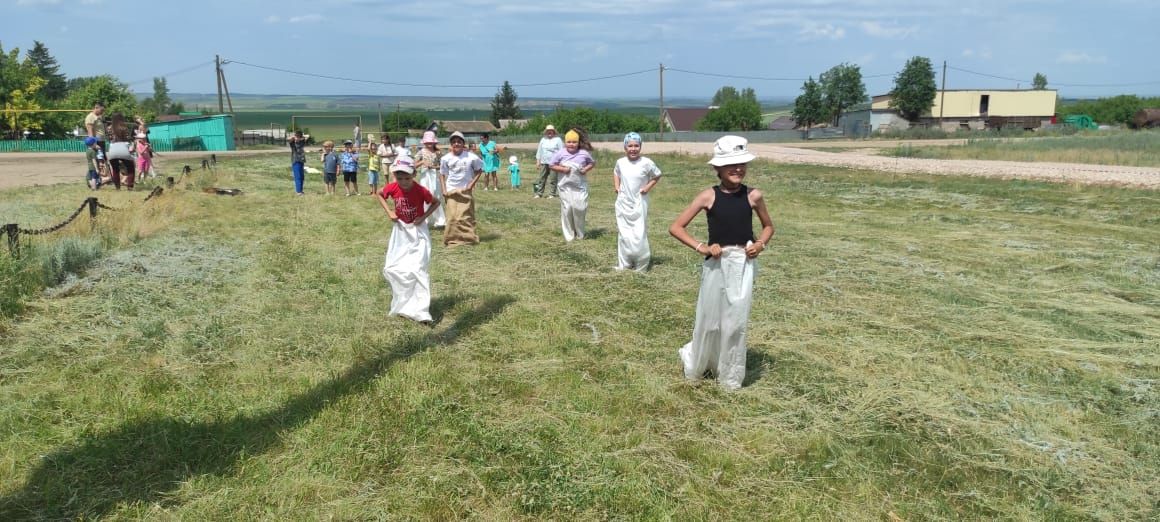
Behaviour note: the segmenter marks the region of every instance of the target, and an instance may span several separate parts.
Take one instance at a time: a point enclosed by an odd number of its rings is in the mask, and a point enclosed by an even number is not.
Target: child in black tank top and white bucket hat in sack
[[[774,237],[774,223],[761,191],[742,183],[748,162],[754,159],[745,138],[720,137],[709,160],[720,183],[697,194],[668,227],[674,238],[705,256],[693,341],[677,351],[684,378],[698,380],[712,374],[728,390],[741,387],[745,380],[745,340],[756,258]],[[709,219],[705,241],[694,239],[686,230],[701,211]],[[753,235],[754,215],[761,222],[757,239]]]

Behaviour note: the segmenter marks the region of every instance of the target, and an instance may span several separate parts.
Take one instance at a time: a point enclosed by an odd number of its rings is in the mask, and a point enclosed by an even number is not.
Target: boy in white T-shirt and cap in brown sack
[[[452,132],[451,152],[438,164],[440,186],[447,205],[443,245],[478,245],[476,233],[476,196],[472,191],[484,173],[484,161],[467,151],[463,132]]]

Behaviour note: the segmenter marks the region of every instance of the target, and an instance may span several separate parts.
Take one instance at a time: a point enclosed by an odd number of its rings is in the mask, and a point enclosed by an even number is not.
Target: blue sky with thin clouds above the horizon
[[[666,96],[709,97],[732,85],[753,87],[761,97],[792,97],[802,79],[844,61],[862,67],[870,94],[882,94],[907,58],[925,56],[936,68],[943,60],[954,67],[948,88],[1027,87],[1042,72],[1070,97],[1160,94],[1160,60],[1153,55],[1160,49],[1158,0],[2,0],[0,6],[6,51],[41,41],[66,75],[108,73],[138,92],[148,92],[158,75],[172,92],[215,92],[211,63],[220,55],[233,61],[226,65],[233,93],[491,96],[492,86],[508,80],[523,97],[655,97],[664,63],[670,68]],[[108,37],[114,34],[121,37]],[[640,73],[531,85],[633,72]]]

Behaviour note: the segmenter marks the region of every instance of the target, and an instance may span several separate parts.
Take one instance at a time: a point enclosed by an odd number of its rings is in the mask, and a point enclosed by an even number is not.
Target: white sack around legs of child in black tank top
[[[693,341],[677,351],[684,364],[684,378],[696,380],[711,370],[722,386],[741,387],[756,271],[756,263],[746,258],[741,247],[725,247],[720,259],[705,260]]]

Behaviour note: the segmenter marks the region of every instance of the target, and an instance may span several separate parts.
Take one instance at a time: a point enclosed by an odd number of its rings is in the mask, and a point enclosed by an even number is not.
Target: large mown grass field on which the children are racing
[[[730,393],[681,377],[699,260],[665,233],[711,171],[654,157],[626,274],[614,159],[578,244],[530,176],[480,193],[432,329],[384,317],[375,201],[293,197],[284,154],[195,173],[238,197],[99,193],[95,239],[0,253],[0,520],[1160,517],[1157,193],[759,161],[777,235]]]

